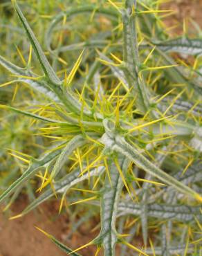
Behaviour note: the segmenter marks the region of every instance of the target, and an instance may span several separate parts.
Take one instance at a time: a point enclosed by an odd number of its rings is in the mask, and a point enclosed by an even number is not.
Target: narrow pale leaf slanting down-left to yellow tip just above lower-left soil
[[[52,188],[48,188],[45,192],[39,195],[35,201],[30,203],[28,207],[24,209],[23,212],[21,212],[21,215],[27,214],[31,210],[37,208],[38,205],[43,203],[44,201],[50,199],[50,197],[54,196],[56,194],[63,194],[64,192],[67,192],[71,187],[76,185],[77,183],[80,183],[86,179],[89,179],[91,176],[99,176],[104,171],[104,167],[98,167],[97,169],[91,170],[89,173],[86,173],[82,176],[79,176],[81,173],[80,169],[77,169],[73,172],[70,172],[64,178],[62,178],[59,181],[56,181],[53,183],[54,185],[54,191]]]

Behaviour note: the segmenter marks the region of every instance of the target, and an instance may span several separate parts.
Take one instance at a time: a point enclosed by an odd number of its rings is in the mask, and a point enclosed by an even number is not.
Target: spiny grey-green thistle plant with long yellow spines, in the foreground
[[[59,213],[82,210],[80,223],[100,212],[99,235],[80,248],[41,230],[67,254],[97,246],[97,256],[199,255],[201,39],[186,33],[170,39],[160,19],[169,11],[159,10],[158,1],[89,1],[50,21],[47,57],[12,2],[30,42],[28,64],[21,68],[1,56],[0,64],[15,76],[12,82],[28,84],[39,96],[32,105],[0,107],[33,120],[33,136],[42,137],[44,149],[39,156],[24,148],[9,151],[28,167],[2,192],[1,202],[10,205],[34,176],[41,179],[39,196],[12,219],[57,194]],[[95,24],[84,42],[64,36],[77,16]],[[110,29],[100,30],[100,20]],[[33,52],[42,75],[31,66]],[[71,66],[64,68],[68,60]]]

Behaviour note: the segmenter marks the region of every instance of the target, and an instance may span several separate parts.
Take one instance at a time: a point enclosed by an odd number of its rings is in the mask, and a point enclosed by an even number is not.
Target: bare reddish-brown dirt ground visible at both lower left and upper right
[[[175,10],[172,18],[166,19],[167,26],[178,27],[170,30],[172,35],[179,35],[182,31],[182,21],[191,17],[202,26],[202,0],[175,0],[166,3],[163,8]],[[172,21],[171,21],[172,20]],[[192,32],[192,31],[191,31]],[[26,199],[21,197],[12,208],[12,215],[18,214],[26,206]],[[8,220],[8,215],[3,214],[0,209],[0,256],[63,256],[47,237],[39,232],[35,226],[46,230],[54,235],[59,241],[64,242],[71,248],[77,248],[88,243],[95,237],[91,233],[91,227],[85,226],[71,238],[71,241],[64,241],[68,234],[69,221],[64,215],[58,215],[57,202],[45,203],[42,205],[42,212],[30,212],[25,217]],[[54,217],[54,221],[51,220]],[[85,232],[84,232],[85,230]],[[95,249],[92,247],[81,250],[82,255],[94,255]]]

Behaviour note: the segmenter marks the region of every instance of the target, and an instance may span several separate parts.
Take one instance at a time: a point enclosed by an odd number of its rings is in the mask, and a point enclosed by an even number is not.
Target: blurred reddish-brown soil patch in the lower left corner
[[[21,196],[12,206],[10,215],[19,214],[27,205]],[[82,226],[71,240],[65,241],[68,235],[69,221],[66,214],[58,215],[59,205],[56,201],[44,203],[40,212],[30,212],[19,219],[9,220],[8,214],[0,209],[0,256],[63,256],[63,253],[48,237],[39,232],[35,226],[53,235],[66,246],[78,248],[87,244],[96,234],[89,225]],[[94,255],[95,248],[90,246],[80,251],[82,255]]]

